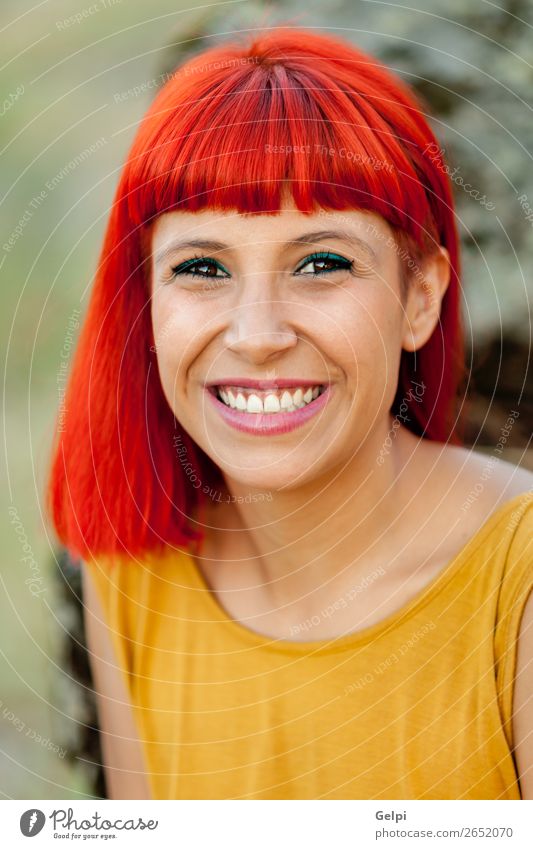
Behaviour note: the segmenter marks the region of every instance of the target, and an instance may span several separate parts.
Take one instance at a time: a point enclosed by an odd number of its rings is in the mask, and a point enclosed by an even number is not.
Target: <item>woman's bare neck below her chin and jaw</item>
[[[391,424],[389,417],[348,462],[320,479],[278,490],[270,500],[264,490],[225,478],[233,508],[231,524],[224,526],[233,552],[228,559],[242,559],[250,584],[268,585],[272,600],[283,603],[347,568],[351,577],[364,577],[380,563],[385,538],[391,547],[408,459],[419,442],[403,427],[386,441]]]

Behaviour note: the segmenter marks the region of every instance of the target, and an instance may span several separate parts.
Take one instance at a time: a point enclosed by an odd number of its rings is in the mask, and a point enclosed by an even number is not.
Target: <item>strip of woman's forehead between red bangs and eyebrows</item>
[[[364,239],[375,250],[385,244],[392,230],[380,215],[362,210],[326,210],[303,213],[293,203],[285,203],[275,213],[239,213],[237,210],[206,209],[198,212],[172,211],[156,218],[152,227],[152,247],[164,247],[176,236],[205,236],[228,245],[267,240],[284,244],[302,234],[338,232]]]

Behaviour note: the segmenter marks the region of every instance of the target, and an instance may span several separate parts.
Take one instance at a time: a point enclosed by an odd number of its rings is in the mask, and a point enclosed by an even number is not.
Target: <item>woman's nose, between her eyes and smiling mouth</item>
[[[274,359],[298,342],[289,318],[293,305],[269,296],[269,290],[265,277],[243,284],[225,334],[228,350],[254,364]]]

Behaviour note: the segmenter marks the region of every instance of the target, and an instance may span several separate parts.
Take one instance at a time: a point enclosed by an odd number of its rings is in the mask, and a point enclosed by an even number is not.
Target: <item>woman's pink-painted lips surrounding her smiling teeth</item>
[[[266,382],[266,381],[265,381]],[[258,386],[257,381],[248,381],[249,385]],[[224,385],[224,384],[217,384]],[[246,386],[246,383],[232,383],[235,386]],[[274,387],[280,386],[281,382],[274,381]],[[290,386],[317,386],[316,383],[293,383],[287,381],[285,385]],[[264,387],[263,388],[271,388]],[[272,387],[273,388],[273,387]],[[305,407],[300,407],[299,410],[294,410],[292,413],[243,413],[240,410],[235,410],[232,407],[226,406],[223,401],[220,401],[217,396],[206,388],[206,394],[214,404],[215,409],[220,416],[235,430],[243,431],[244,433],[252,433],[256,436],[273,436],[280,433],[288,433],[301,427],[305,422],[309,421],[313,416],[323,410],[331,397],[331,384],[328,384],[324,392],[306,404]]]

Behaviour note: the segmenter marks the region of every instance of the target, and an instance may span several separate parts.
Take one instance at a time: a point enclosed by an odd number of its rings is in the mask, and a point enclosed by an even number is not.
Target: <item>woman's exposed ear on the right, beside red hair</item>
[[[450,255],[442,245],[411,269],[402,336],[402,348],[406,351],[421,348],[435,330],[449,282]]]

